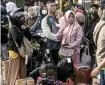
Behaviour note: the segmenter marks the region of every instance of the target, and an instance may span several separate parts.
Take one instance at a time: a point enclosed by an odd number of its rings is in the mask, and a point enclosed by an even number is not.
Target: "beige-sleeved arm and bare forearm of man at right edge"
[[[96,77],[99,72],[102,70],[102,68],[105,67],[105,26],[103,26],[101,28],[101,31],[100,31],[100,36],[98,38],[98,41],[97,41],[97,46],[98,47],[101,47],[100,49],[97,49],[97,51],[99,51],[100,53],[100,56],[104,57],[104,59],[102,60],[102,62],[100,62],[100,64],[98,64],[98,66],[91,72],[91,77]]]

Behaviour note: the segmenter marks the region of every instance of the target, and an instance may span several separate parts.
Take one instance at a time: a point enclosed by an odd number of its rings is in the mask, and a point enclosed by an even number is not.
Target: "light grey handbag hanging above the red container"
[[[88,49],[88,52],[86,53],[87,49]],[[91,62],[92,62],[92,58],[89,52],[89,43],[87,42],[87,46],[85,47],[84,52],[82,53],[81,64],[84,66],[91,67]]]

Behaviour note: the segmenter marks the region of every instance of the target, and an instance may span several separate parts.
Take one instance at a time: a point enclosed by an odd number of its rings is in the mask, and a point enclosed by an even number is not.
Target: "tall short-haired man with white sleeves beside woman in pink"
[[[51,56],[55,64],[58,62],[58,50],[60,44],[56,41],[53,41],[55,34],[58,32],[58,29],[55,25],[56,19],[54,13],[56,12],[56,4],[53,0],[47,2],[48,15],[42,20],[41,28],[44,35],[48,38],[47,46],[50,49]]]

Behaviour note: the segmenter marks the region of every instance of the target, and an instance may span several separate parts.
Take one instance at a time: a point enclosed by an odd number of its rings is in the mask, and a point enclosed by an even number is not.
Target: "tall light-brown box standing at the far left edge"
[[[7,75],[8,75],[9,60],[1,61],[1,78],[2,83],[7,85]]]

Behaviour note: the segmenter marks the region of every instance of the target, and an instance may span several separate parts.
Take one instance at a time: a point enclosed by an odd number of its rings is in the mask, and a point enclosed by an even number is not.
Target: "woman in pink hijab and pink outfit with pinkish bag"
[[[70,53],[74,50],[73,63],[74,65],[80,64],[80,43],[82,42],[83,31],[76,22],[74,12],[67,11],[64,17],[60,19],[60,25],[60,30],[56,34],[57,39],[61,41],[60,53],[63,56],[71,56]]]

